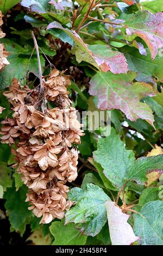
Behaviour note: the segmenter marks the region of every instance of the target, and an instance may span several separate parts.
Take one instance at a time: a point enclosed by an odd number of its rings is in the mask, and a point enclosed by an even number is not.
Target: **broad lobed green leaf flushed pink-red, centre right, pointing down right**
[[[121,75],[97,72],[90,81],[89,93],[97,96],[99,109],[120,109],[131,121],[141,118],[153,125],[151,108],[140,102],[147,95],[155,95],[153,88],[147,83],[133,83],[135,77],[136,73],[131,71]]]

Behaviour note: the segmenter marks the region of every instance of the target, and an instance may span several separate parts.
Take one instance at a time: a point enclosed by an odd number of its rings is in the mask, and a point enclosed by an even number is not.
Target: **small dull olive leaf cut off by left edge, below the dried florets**
[[[11,169],[5,162],[0,162],[0,185],[3,187],[3,191],[12,186]]]

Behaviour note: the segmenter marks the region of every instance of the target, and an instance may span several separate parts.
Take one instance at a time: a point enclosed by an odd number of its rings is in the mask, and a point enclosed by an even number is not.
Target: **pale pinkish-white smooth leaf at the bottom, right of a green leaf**
[[[130,245],[139,239],[127,222],[129,215],[123,214],[115,202],[107,201],[106,211],[108,216],[109,233],[112,245]]]

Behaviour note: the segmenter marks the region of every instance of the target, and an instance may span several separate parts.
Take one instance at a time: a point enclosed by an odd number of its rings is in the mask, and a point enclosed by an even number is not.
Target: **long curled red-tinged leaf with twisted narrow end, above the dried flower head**
[[[114,74],[127,72],[127,62],[123,53],[112,51],[108,45],[86,45],[75,31],[62,27],[56,21],[48,25],[47,29],[51,28],[62,29],[73,39],[78,46],[76,49],[78,63],[85,61],[103,72],[109,70]]]

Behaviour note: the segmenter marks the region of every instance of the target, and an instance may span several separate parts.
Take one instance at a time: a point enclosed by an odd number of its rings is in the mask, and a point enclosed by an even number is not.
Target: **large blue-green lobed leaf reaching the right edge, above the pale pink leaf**
[[[110,136],[99,138],[93,159],[100,163],[106,178],[120,189],[126,181],[143,185],[149,172],[162,172],[163,155],[140,157],[135,160],[132,150],[126,150],[120,136],[111,129]]]

